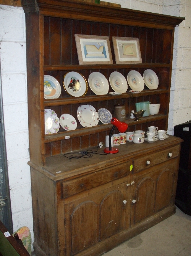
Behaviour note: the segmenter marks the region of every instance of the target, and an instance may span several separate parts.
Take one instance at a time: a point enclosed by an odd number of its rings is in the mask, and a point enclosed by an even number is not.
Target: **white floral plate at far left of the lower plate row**
[[[60,128],[59,118],[52,109],[44,110],[44,128],[45,134],[56,133]]]

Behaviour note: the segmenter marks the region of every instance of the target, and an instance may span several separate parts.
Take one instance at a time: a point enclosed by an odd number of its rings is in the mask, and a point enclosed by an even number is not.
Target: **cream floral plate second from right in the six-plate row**
[[[129,71],[127,81],[133,91],[142,91],[144,89],[143,77],[136,70]]]

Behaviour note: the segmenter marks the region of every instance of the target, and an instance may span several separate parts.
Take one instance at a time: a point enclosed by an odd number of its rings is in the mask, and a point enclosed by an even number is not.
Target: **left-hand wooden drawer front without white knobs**
[[[125,177],[130,173],[130,165],[131,162],[129,161],[124,164],[115,165],[98,172],[87,174],[83,177],[62,182],[63,198]]]

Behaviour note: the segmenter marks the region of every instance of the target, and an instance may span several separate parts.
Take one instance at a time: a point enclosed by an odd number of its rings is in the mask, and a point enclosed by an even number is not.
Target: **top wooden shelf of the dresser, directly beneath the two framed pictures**
[[[128,69],[128,68],[168,68],[168,63],[141,63],[141,64],[107,64],[107,65],[46,65],[44,71],[55,70],[83,70],[83,69]]]

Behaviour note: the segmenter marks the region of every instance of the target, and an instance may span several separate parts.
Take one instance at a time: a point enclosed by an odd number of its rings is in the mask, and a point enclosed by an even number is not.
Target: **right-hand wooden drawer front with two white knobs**
[[[164,150],[158,151],[154,154],[148,154],[148,155],[144,155],[143,157],[134,159],[133,160],[133,172],[134,173],[139,172],[145,168],[149,168],[153,165],[160,164],[169,159],[178,157],[179,150],[180,150],[179,145],[176,145],[175,147],[164,149]],[[168,155],[169,153],[172,154],[171,157]],[[147,161],[150,161],[150,164]]]

